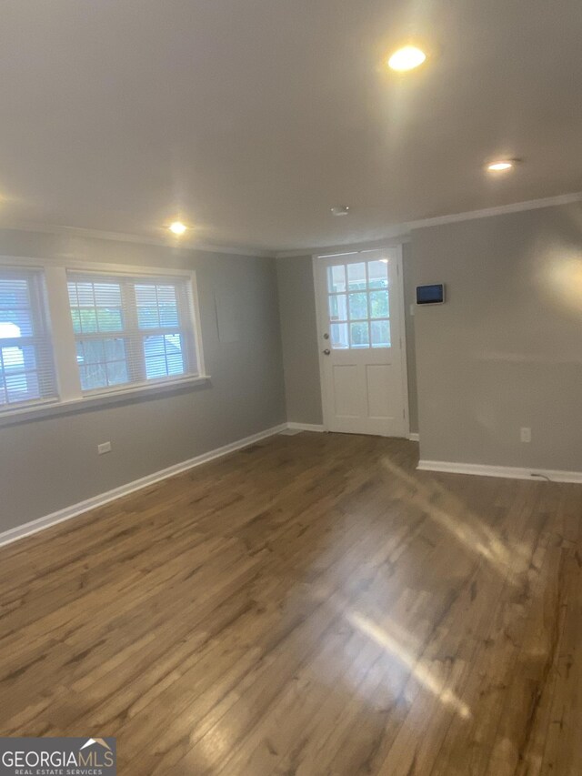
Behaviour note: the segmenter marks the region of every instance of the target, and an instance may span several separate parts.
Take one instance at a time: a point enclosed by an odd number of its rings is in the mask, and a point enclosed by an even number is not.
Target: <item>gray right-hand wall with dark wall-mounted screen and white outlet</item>
[[[582,470],[582,206],[413,232],[421,459]],[[532,429],[530,444],[519,430]]]

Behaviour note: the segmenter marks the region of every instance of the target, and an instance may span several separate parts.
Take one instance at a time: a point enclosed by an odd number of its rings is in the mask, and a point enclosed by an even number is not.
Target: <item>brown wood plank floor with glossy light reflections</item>
[[[280,436],[0,549],[0,732],[123,776],[582,773],[582,487]]]

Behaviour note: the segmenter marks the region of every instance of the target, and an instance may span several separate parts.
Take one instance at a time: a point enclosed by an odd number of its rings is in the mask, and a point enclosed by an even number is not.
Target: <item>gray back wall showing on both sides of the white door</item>
[[[414,317],[410,315],[414,287],[409,245],[405,244],[403,256],[410,430],[417,431],[415,332]],[[312,258],[311,256],[281,257],[277,259],[276,265],[287,417],[296,423],[320,424],[323,423],[323,415]]]

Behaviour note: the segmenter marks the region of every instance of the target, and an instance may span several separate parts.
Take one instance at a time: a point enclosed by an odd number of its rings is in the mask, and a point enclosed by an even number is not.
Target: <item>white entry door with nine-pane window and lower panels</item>
[[[324,424],[408,434],[402,250],[314,258]]]

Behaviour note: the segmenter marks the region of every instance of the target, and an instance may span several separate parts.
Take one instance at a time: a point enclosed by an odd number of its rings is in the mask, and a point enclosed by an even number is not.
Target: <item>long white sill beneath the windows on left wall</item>
[[[0,414],[0,428],[12,426],[15,423],[24,423],[27,420],[51,418],[57,415],[68,415],[83,409],[104,407],[107,404],[118,404],[122,401],[131,401],[140,397],[174,393],[184,388],[204,385],[209,381],[210,375],[198,375],[192,378],[135,386],[134,388],[123,388],[108,393],[95,394],[94,396],[84,396],[72,401],[51,401],[36,404],[34,407],[14,409]]]

